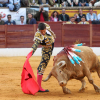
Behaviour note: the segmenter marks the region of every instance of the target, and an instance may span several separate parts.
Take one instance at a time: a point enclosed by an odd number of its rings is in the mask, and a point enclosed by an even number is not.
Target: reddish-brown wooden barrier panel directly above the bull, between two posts
[[[63,25],[62,46],[72,45],[75,42],[86,43],[90,46],[90,25]]]

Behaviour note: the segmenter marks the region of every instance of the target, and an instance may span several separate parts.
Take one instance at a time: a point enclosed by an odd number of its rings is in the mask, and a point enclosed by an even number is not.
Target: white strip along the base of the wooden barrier
[[[100,56],[100,47],[91,47],[93,52]],[[63,47],[54,47],[52,56],[56,56]],[[0,57],[27,56],[31,48],[0,48]],[[41,56],[42,48],[37,48],[33,56]]]

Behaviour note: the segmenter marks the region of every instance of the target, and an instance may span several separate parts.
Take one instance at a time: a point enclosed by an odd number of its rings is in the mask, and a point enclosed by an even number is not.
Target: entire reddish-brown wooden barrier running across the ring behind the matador
[[[75,42],[86,43],[91,47],[100,46],[100,25],[47,23],[56,34],[55,47],[64,47]],[[37,25],[1,25],[0,48],[30,48],[36,31]]]

